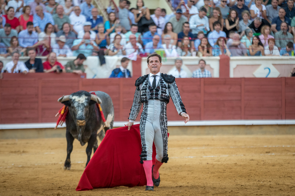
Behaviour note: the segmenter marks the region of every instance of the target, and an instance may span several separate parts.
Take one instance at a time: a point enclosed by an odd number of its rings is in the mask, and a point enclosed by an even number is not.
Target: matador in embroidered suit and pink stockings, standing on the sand
[[[141,76],[135,82],[134,100],[129,116],[129,122],[126,124],[128,130],[135,122],[141,105],[143,111],[140,116],[140,137],[142,152],[140,163],[143,164],[147,179],[146,191],[153,191],[154,186],[160,185],[159,168],[168,161],[168,135],[167,135],[167,112],[166,107],[171,99],[180,116],[189,121],[189,115],[182,103],[175,77],[160,73],[162,66],[160,55],[153,53],[148,59],[148,68],[150,74]],[[157,155],[155,165],[152,162],[153,142],[156,147]]]

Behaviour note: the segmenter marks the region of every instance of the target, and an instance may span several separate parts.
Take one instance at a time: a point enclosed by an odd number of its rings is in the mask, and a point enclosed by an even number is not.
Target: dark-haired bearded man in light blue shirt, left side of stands
[[[19,46],[24,48],[36,48],[38,46],[38,34],[33,30],[34,25],[29,21],[27,23],[27,29],[19,32]]]

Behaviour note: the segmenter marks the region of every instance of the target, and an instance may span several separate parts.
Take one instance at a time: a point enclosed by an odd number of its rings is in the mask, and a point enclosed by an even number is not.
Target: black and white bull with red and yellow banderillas
[[[90,155],[95,153],[98,148],[97,136],[102,140],[107,130],[113,128],[114,106],[111,97],[101,91],[95,91],[95,95],[87,91],[78,91],[71,95],[62,96],[58,102],[68,106],[66,116],[66,139],[67,139],[67,158],[63,169],[71,169],[70,155],[73,150],[75,138],[82,146],[88,143],[86,148],[87,162]],[[104,123],[96,103],[100,104],[106,122]]]

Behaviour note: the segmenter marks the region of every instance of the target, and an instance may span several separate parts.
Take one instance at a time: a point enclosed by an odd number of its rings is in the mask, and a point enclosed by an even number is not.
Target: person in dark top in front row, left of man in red
[[[29,73],[40,72],[43,73],[43,64],[41,58],[36,58],[35,48],[30,48],[28,51],[28,56],[30,57],[24,64],[29,69]]]

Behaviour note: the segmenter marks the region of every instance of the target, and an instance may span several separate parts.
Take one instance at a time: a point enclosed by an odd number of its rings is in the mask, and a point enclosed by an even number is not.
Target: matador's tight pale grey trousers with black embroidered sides
[[[144,103],[140,118],[140,136],[142,142],[142,160],[152,160],[153,142],[156,147],[156,159],[167,163],[167,115],[166,103],[149,100]]]

